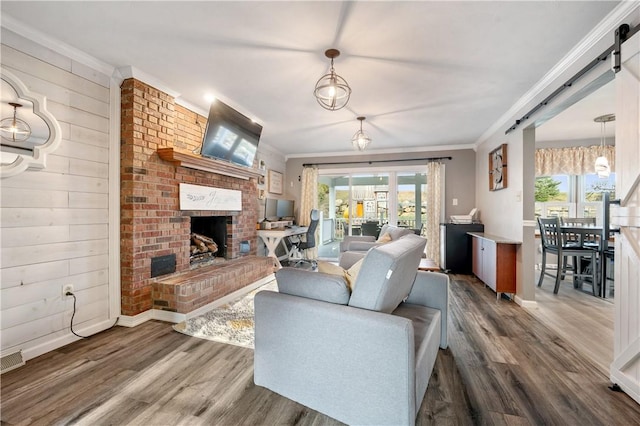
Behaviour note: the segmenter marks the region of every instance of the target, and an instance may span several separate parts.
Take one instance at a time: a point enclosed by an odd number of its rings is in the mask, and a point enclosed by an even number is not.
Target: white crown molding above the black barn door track
[[[495,123],[491,125],[475,142],[475,149],[486,142],[491,135],[518,116],[518,112],[536,101],[536,98],[554,81],[562,76],[567,69],[578,62],[590,49],[596,46],[606,36],[612,36],[613,32],[624,23],[625,19],[640,9],[640,2],[621,1],[600,23],[589,32],[578,44],[569,51],[556,65],[547,72],[527,93],[513,104]],[[613,43],[613,39],[612,39]],[[601,52],[600,52],[601,53]]]

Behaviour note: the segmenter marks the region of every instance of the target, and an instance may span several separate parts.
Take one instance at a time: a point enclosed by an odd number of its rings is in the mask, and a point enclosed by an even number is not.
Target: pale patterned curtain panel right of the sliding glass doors
[[[433,161],[427,163],[427,259],[440,264],[440,223],[442,221],[442,197],[444,184],[444,164]]]

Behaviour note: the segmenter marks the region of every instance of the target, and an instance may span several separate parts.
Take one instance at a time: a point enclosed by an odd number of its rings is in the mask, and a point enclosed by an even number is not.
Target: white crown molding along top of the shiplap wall
[[[86,65],[96,71],[100,71],[105,75],[111,76],[115,69],[113,65],[107,64],[106,62],[94,58],[75,47],[69,46],[60,40],[26,25],[22,21],[12,17],[11,15],[7,15],[6,13],[2,13],[2,27],[31,40],[34,43],[38,43],[47,49],[51,49],[56,53],[64,55],[73,61]]]

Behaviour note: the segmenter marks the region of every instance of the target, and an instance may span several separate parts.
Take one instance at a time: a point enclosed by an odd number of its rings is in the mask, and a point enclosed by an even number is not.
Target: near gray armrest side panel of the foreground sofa
[[[347,424],[414,424],[410,320],[261,291],[254,381]]]

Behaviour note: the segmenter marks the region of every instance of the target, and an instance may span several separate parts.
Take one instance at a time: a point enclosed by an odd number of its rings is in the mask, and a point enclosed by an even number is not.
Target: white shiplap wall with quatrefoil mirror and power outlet
[[[1,351],[25,359],[115,321],[109,309],[110,76],[13,34],[2,66],[47,98],[62,129],[42,171],[2,179]],[[117,226],[117,224],[115,225]]]

